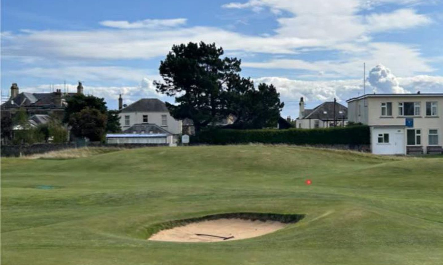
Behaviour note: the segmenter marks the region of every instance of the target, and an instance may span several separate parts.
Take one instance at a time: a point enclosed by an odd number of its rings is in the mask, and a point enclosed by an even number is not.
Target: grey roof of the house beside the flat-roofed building
[[[342,113],[340,113],[342,112]],[[348,118],[348,108],[342,104],[335,102],[335,119],[342,120]],[[326,101],[316,106],[312,110],[305,110],[302,119],[319,119],[322,121],[334,120],[334,102]]]

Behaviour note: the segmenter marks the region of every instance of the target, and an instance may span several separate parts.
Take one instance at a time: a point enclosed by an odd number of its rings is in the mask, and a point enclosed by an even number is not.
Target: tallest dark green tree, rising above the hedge
[[[225,114],[223,91],[228,79],[240,72],[240,60],[221,58],[223,49],[204,42],[174,45],[160,63],[163,82],[157,91],[175,96],[177,105],[167,103],[176,119],[190,118],[194,128],[215,122]]]

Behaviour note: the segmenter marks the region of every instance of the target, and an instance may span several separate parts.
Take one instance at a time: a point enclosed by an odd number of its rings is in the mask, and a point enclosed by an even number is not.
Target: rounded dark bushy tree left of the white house
[[[71,114],[69,124],[71,132],[77,137],[87,137],[91,141],[105,138],[106,120],[108,116],[100,110],[86,107],[80,112]]]

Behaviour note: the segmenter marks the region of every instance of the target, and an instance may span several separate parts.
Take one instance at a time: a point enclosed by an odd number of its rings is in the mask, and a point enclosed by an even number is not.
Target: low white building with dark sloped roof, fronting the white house
[[[175,146],[174,135],[162,127],[149,124],[135,124],[123,133],[106,134],[107,144],[154,144]]]

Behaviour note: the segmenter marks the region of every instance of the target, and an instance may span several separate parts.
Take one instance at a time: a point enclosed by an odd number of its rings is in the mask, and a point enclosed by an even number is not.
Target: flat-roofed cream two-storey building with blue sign
[[[366,94],[347,102],[349,121],[370,126],[374,154],[442,152],[443,94]]]

